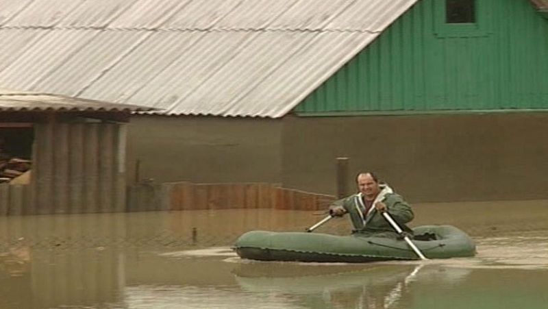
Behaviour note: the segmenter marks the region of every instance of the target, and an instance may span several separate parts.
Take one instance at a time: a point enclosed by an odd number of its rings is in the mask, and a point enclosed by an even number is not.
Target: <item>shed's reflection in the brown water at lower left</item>
[[[124,285],[121,217],[36,216],[3,219],[0,308],[95,306]],[[0,272],[2,273],[2,272]]]

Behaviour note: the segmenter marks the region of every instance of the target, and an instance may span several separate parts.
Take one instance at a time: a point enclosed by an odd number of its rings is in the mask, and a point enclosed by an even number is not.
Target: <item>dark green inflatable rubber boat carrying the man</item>
[[[413,229],[412,243],[426,258],[475,256],[473,240],[451,225],[424,225]],[[352,234],[336,236],[306,232],[251,231],[236,240],[240,258],[263,261],[376,262],[418,260],[403,239]]]

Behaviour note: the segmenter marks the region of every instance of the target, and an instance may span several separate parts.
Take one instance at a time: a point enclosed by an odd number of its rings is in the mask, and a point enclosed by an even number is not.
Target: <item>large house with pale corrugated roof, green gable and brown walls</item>
[[[4,1],[0,86],[162,108],[127,182],[545,199],[545,0]],[[352,181],[353,175],[349,175]]]

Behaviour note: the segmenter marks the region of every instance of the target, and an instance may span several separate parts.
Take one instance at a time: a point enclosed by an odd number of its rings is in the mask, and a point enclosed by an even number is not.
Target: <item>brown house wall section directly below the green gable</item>
[[[410,201],[548,197],[548,114],[284,119],[282,182],[334,194],[335,158],[349,181],[376,171]]]

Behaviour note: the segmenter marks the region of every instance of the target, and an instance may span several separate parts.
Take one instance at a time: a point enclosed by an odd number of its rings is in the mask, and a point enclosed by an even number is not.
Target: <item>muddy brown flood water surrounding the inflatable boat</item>
[[[325,214],[194,210],[0,218],[0,308],[548,308],[548,201],[414,205],[474,258],[369,264],[254,262],[249,230],[304,230]],[[315,232],[347,234],[336,219]]]

